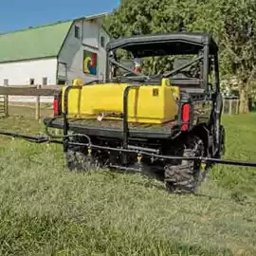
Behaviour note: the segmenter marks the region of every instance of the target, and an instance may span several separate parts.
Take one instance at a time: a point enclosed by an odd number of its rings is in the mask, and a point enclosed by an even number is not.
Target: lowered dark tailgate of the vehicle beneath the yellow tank
[[[123,138],[122,126],[88,125],[86,122],[81,123],[80,121],[81,119],[69,119],[69,130],[87,136]],[[64,129],[64,119],[62,117],[44,119],[44,124],[50,128]],[[175,123],[169,123],[168,125],[152,129],[149,127],[129,127],[129,137],[171,139],[174,136],[174,124]]]

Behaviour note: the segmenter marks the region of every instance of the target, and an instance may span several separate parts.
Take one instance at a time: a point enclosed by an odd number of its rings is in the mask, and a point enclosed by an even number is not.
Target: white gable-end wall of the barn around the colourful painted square
[[[75,26],[80,27],[80,38],[75,37]],[[103,77],[105,49],[101,47],[101,35],[105,37],[105,44],[107,44],[109,36],[101,28],[100,23],[77,21],[71,27],[58,59],[58,77],[60,79],[66,77],[67,83],[70,84],[76,78],[88,82]],[[98,74],[96,76],[83,73],[83,50],[98,54]]]

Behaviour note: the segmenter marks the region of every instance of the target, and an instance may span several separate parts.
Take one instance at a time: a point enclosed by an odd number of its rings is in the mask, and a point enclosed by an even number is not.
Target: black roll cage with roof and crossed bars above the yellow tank
[[[196,55],[195,59],[174,66],[173,70],[155,76],[137,74],[132,68],[120,64],[117,50],[130,52],[133,58]],[[140,35],[129,38],[119,38],[109,42],[106,46],[106,82],[113,82],[112,68],[119,67],[129,73],[122,80],[134,82],[159,83],[162,78],[170,78],[171,83],[185,87],[199,87],[209,92],[212,84],[209,82],[210,70],[214,72],[215,91],[219,91],[218,46],[210,34],[173,32],[168,34]],[[200,78],[176,77],[180,71],[193,64],[201,63]],[[210,88],[211,87],[211,88]]]

